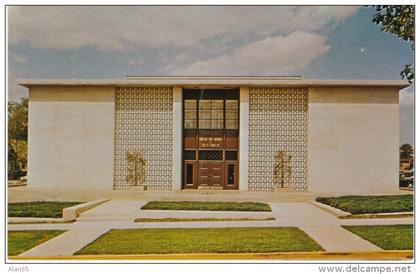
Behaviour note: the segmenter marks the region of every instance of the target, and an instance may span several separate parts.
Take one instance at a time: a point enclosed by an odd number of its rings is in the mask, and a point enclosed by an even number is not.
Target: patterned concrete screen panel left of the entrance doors
[[[116,89],[115,189],[172,188],[172,97],[172,88]]]

